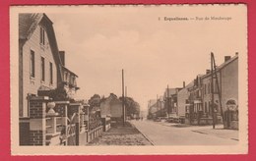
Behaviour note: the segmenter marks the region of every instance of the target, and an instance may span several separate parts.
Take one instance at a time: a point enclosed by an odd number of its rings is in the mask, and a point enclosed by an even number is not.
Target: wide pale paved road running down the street
[[[233,145],[237,140],[192,132],[196,127],[167,127],[153,121],[131,122],[154,145]]]

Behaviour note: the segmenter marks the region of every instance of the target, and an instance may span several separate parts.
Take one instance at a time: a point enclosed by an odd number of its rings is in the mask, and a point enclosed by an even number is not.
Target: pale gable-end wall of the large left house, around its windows
[[[44,47],[39,44],[40,42],[40,27],[37,26],[32,33],[30,39],[25,42],[23,46],[23,102],[20,102],[20,108],[23,109],[20,117],[28,117],[28,99],[29,93],[37,94],[38,88],[43,85],[49,88],[56,88],[57,86],[57,68],[54,62],[53,54],[48,41],[48,36],[45,30],[45,45]],[[30,74],[30,59],[31,49],[34,51],[34,79],[31,79]],[[40,75],[40,61],[41,56],[44,57],[45,62],[45,81],[41,81]],[[53,84],[50,84],[49,62],[53,65]]]

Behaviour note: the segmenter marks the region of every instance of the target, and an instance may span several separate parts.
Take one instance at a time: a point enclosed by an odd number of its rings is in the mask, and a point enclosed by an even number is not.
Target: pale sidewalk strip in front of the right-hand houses
[[[177,124],[177,123],[165,123],[165,122],[156,122],[160,123],[162,126],[167,127],[175,127],[175,128],[185,128],[194,133],[199,134],[210,134],[222,138],[228,138],[233,140],[239,140],[239,131],[236,130],[225,130],[223,125],[216,125],[216,128],[213,129],[212,125],[209,126],[192,126],[185,124]]]

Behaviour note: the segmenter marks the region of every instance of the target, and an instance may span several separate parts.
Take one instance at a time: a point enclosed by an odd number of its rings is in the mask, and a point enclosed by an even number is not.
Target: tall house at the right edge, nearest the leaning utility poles
[[[224,63],[217,67],[216,75],[218,83],[215,76],[212,82],[211,73],[202,77],[205,113],[210,116],[213,116],[213,112],[216,113],[216,123],[224,123],[226,129],[238,129],[238,54],[236,53],[234,57],[225,56]],[[212,92],[214,93],[214,107],[211,106]],[[229,102],[235,106],[230,112]],[[234,114],[231,114],[233,112]]]

